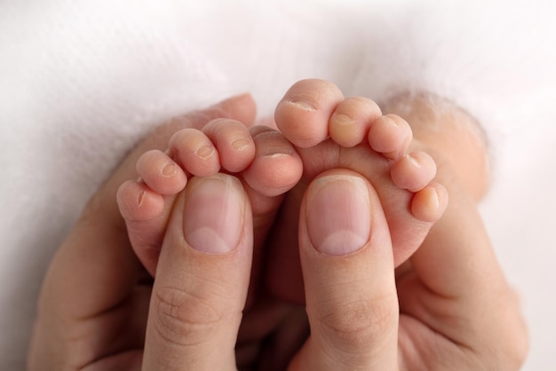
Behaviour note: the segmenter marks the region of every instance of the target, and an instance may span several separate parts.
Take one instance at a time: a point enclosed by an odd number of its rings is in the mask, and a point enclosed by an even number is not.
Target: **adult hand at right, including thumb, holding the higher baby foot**
[[[356,174],[347,174],[352,180],[342,188],[323,193],[338,175],[346,177],[346,170],[315,180],[301,207],[299,250],[311,335],[290,371],[518,370],[528,350],[520,303],[475,201],[457,178],[439,171],[448,209],[394,277],[392,242],[377,194]],[[358,182],[366,183],[368,200],[347,196],[364,194],[353,186]],[[346,210],[323,207],[330,202]],[[366,203],[369,242],[346,256],[322,255],[328,234],[335,232],[330,225],[343,224],[338,216]],[[328,227],[319,226],[323,220]]]

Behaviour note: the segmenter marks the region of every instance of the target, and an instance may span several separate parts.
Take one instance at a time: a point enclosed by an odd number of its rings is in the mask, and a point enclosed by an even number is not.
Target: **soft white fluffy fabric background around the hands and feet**
[[[428,89],[481,118],[481,205],[531,333],[556,333],[556,12],[550,0],[48,0],[0,3],[0,369],[24,367],[36,295],[83,203],[147,130],[250,91],[330,79],[384,99]],[[488,282],[485,282],[488,284]]]

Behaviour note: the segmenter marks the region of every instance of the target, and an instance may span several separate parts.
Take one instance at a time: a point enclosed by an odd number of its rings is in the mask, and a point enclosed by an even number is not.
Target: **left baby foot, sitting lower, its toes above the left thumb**
[[[267,220],[272,220],[282,194],[298,183],[302,164],[278,131],[217,119],[203,130],[179,130],[166,152],[143,154],[137,170],[139,180],[120,187],[118,205],[136,255],[154,276],[173,203],[188,178],[219,171],[240,178],[250,198],[257,238],[267,232]],[[256,247],[259,243],[255,241]]]

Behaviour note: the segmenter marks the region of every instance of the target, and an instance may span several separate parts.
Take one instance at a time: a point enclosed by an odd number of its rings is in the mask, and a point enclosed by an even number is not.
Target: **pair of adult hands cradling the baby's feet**
[[[252,101],[232,99],[184,120],[201,127],[211,115],[250,124]],[[166,134],[156,146],[163,148]],[[115,206],[115,189],[132,178],[131,164],[152,147],[151,139],[107,181],[54,259],[30,369],[236,369],[253,248],[248,196],[230,175],[189,182],[172,209],[151,293],[138,284],[142,271]],[[392,236],[367,178],[329,170],[312,180],[299,212],[311,335],[290,370],[520,366],[526,347],[519,304],[473,199],[453,185],[445,216],[396,282]],[[208,197],[215,189],[219,197]]]

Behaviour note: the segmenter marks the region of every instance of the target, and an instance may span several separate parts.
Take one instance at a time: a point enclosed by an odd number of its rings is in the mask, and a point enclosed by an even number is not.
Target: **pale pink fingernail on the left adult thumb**
[[[238,244],[242,232],[241,183],[218,174],[193,178],[184,208],[187,243],[207,254],[226,254]]]

